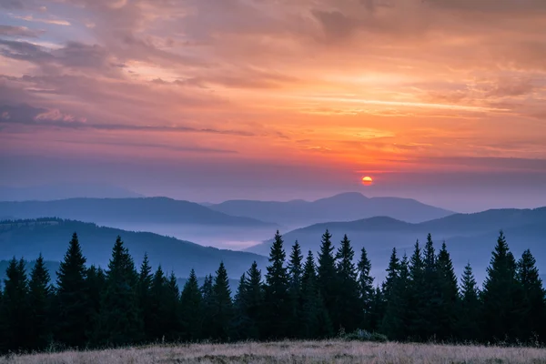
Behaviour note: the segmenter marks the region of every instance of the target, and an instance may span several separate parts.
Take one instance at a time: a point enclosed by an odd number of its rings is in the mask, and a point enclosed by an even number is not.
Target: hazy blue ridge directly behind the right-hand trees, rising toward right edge
[[[536,209],[497,209],[476,214],[454,214],[418,224],[408,223],[392,217],[371,217],[349,222],[328,222],[288,231],[283,235],[287,248],[298,240],[304,252],[309,249],[316,253],[321,235],[326,229],[332,234],[332,241],[339,245],[344,234],[349,236],[353,248],[365,247],[369,253],[374,274],[384,276],[390,251],[399,250],[409,256],[416,240],[421,245],[427,235],[432,234],[436,248],[446,242],[453,263],[460,273],[469,261],[475,268],[477,278],[482,279],[489,265],[499,231],[502,229],[516,258],[524,249],[530,248],[537,259],[541,272],[546,271],[546,207]],[[247,251],[268,254],[271,240]]]

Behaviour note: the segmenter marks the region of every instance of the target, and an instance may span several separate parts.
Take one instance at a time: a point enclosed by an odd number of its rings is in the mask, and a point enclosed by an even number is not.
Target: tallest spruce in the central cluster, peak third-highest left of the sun
[[[320,295],[324,299],[329,318],[336,331],[339,328],[338,317],[338,275],[336,272],[336,258],[334,257],[334,246],[331,242],[332,235],[327,229],[322,235],[319,249],[319,266],[317,267],[317,279]]]

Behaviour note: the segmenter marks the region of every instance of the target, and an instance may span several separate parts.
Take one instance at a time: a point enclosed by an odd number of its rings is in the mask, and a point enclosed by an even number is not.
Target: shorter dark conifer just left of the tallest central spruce
[[[303,267],[302,287],[302,318],[299,336],[303,339],[329,338],[332,324],[328,310],[320,295],[315,258],[309,250]]]

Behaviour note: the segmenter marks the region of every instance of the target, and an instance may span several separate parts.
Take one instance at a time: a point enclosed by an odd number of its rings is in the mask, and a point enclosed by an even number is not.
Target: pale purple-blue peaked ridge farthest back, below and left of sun
[[[288,202],[230,200],[208,207],[231,216],[254,217],[289,227],[378,216],[422,222],[454,214],[452,211],[425,205],[410,198],[365,197],[358,192],[343,193],[311,202],[299,199]]]

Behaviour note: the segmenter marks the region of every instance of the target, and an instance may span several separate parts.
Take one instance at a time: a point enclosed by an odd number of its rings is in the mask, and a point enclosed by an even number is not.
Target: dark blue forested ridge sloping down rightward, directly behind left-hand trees
[[[74,232],[78,235],[87,265],[96,264],[103,268],[106,268],[118,235],[135,259],[136,266],[147,252],[154,268],[161,265],[167,272],[173,270],[177,277],[187,277],[191,268],[199,277],[214,274],[223,261],[229,277],[238,278],[253,261],[256,260],[261,267],[267,263],[266,257],[253,253],[203,247],[177,238],[60,218],[0,222],[0,260],[14,256],[34,260],[41,252],[45,260],[61,261]]]

